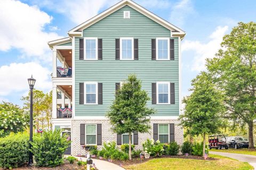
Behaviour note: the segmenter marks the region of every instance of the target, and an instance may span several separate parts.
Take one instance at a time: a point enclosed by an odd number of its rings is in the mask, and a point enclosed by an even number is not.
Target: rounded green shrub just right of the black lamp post
[[[60,135],[59,130],[37,135],[31,143],[36,166],[55,167],[63,164],[63,154],[69,143],[65,136]]]

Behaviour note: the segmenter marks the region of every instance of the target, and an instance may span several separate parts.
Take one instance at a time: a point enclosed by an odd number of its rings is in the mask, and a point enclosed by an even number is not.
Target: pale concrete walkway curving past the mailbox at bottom
[[[82,158],[83,161],[86,161],[86,158],[84,157],[76,157],[78,160]],[[99,159],[92,159],[93,163],[99,170],[125,170],[121,166],[118,166],[113,163],[109,163],[108,161],[105,160],[99,160]]]

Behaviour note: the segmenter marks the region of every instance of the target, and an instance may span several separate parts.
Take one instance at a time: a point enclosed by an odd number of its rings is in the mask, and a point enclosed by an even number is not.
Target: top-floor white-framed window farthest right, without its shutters
[[[156,38],[156,60],[170,60],[170,38]]]

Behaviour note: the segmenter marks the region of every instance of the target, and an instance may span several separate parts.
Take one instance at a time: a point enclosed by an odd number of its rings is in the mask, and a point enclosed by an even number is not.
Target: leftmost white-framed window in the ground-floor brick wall
[[[85,125],[85,143],[86,144],[97,144],[97,125],[88,124]]]

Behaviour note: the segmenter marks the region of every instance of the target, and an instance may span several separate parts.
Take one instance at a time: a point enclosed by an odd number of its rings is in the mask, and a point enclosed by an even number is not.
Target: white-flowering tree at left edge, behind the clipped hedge
[[[28,112],[12,103],[0,104],[0,137],[7,136],[11,132],[23,132],[28,123]]]

